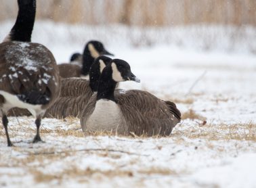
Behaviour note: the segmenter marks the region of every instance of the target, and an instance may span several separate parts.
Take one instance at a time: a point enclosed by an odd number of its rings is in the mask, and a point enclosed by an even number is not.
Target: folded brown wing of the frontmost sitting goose
[[[169,106],[147,91],[116,93],[115,99],[124,116],[123,124],[135,135],[170,135],[179,120]]]

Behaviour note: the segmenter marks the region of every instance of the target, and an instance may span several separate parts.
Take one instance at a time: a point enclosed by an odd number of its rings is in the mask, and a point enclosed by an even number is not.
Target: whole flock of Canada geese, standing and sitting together
[[[31,43],[36,0],[18,0],[16,22],[0,43],[0,110],[7,137],[7,116],[35,116],[41,140],[41,119],[80,118],[85,134],[103,131],[117,135],[171,134],[181,120],[175,103],[141,90],[117,89],[119,82],[140,80],[124,60],[109,53],[99,41],[89,41],[83,55],[56,64],[47,47]]]

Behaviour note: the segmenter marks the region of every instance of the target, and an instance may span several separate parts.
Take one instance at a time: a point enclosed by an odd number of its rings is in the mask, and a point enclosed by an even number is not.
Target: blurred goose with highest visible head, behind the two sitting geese
[[[100,55],[113,55],[104,48],[99,41],[89,41],[85,45],[82,57],[82,66],[77,64],[59,64],[60,76],[62,78],[88,76],[91,65]],[[85,77],[86,78],[86,77]]]

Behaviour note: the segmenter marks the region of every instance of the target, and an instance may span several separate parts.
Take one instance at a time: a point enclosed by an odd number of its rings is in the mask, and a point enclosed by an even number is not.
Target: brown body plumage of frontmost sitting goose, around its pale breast
[[[119,135],[161,135],[171,134],[173,127],[180,121],[180,112],[175,104],[168,105],[147,91],[115,90],[114,99],[120,108],[119,125],[113,131]],[[97,97],[93,95],[81,114],[81,126],[85,133],[102,131],[87,126],[87,121],[95,110]],[[96,128],[96,126],[95,126]]]

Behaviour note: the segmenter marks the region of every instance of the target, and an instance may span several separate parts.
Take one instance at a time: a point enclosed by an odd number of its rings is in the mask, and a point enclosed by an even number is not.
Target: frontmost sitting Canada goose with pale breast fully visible
[[[147,91],[114,90],[116,83],[140,82],[129,64],[112,60],[100,76],[98,93],[94,94],[81,114],[85,133],[106,131],[119,135],[170,135],[181,114],[170,101],[158,99]]]

